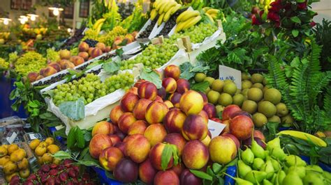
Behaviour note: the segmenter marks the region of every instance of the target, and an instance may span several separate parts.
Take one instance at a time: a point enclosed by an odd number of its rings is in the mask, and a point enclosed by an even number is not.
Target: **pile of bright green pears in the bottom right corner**
[[[252,140],[251,147],[240,154],[237,184],[330,184],[331,174],[319,166],[309,166],[300,156],[281,149],[279,138],[267,143],[267,150]]]

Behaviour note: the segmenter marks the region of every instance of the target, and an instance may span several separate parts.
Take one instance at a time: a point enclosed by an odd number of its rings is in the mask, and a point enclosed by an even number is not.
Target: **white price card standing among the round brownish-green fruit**
[[[225,65],[219,65],[219,79],[232,80],[237,88],[242,89],[242,72]]]

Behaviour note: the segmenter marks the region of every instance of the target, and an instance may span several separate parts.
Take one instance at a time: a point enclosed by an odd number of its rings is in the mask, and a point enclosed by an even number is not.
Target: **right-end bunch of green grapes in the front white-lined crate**
[[[130,86],[133,84],[134,76],[129,72],[125,72],[122,74],[112,75],[105,79],[105,86],[107,86],[107,93],[112,93],[117,89],[128,90]]]

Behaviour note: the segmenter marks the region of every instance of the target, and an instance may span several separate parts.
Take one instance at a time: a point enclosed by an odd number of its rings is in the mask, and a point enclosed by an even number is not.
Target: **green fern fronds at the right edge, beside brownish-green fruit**
[[[294,124],[296,129],[309,134],[325,130],[331,123],[330,92],[318,99],[331,81],[331,71],[321,72],[320,54],[321,47],[312,39],[310,51],[307,51],[305,57],[300,59],[300,63],[293,67],[290,78],[286,77],[280,59],[272,55],[266,56],[269,62],[268,83],[281,90],[282,99],[296,120]]]

